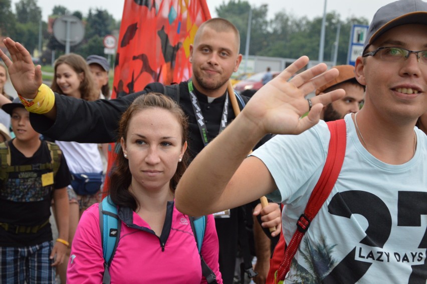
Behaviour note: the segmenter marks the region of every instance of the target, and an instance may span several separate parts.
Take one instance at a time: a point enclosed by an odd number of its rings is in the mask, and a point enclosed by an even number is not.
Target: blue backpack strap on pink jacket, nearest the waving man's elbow
[[[197,243],[197,250],[200,255],[201,274],[206,278],[208,284],[217,284],[217,276],[213,273],[212,269],[204,261],[201,255],[201,245],[203,243],[204,231],[206,229],[206,216],[189,217],[191,230],[193,231],[195,241]]]

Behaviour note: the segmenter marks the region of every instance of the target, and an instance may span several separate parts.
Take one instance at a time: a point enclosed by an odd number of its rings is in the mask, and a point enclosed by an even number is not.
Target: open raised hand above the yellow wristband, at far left
[[[3,40],[11,59],[0,50],[0,57],[8,67],[9,76],[18,94],[27,99],[34,99],[42,85],[42,68],[33,64],[30,53],[20,43],[11,38]]]

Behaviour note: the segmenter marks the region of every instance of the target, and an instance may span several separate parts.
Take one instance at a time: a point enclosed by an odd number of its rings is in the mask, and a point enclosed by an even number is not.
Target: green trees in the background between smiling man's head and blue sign
[[[307,55],[313,60],[319,57],[320,30],[322,17],[309,20],[296,18],[286,11],[278,11],[272,20],[268,20],[268,6],[251,7],[246,0],[230,0],[217,9],[218,17],[231,21],[240,32],[240,52],[245,53],[248,31],[249,10],[252,9],[250,55],[282,58],[299,58]],[[332,11],[326,15],[324,60],[332,61],[337,27],[340,25],[337,64],[347,62],[348,42],[353,24],[367,25],[364,18],[341,20],[340,15]]]

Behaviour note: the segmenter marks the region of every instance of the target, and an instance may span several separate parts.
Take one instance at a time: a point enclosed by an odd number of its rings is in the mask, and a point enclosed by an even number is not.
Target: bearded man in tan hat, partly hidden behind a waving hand
[[[316,96],[337,89],[345,91],[345,97],[323,107],[320,119],[334,121],[344,118],[348,113],[356,113],[365,100],[365,87],[357,82],[354,67],[351,65],[338,65],[339,75],[334,80],[316,89]]]

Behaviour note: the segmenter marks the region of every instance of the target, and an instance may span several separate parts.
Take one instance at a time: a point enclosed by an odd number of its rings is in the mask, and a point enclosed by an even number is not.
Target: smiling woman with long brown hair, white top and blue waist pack
[[[100,94],[96,89],[95,81],[86,61],[80,55],[73,53],[62,55],[55,61],[52,90],[65,96],[86,101],[95,101]],[[70,236],[68,241],[72,243],[77,223],[83,211],[101,200],[103,164],[96,143],[69,141],[56,141],[56,143],[63,151],[73,176],[71,185],[68,187],[70,201]],[[65,282],[66,269],[67,263],[62,264],[58,269],[62,282]]]

